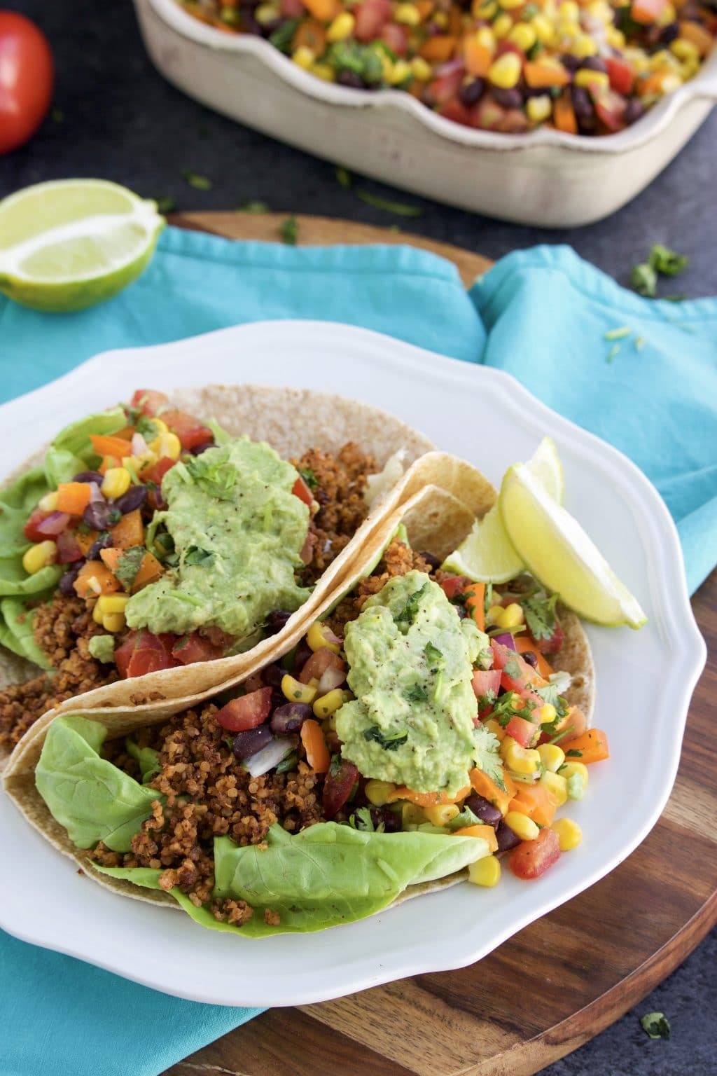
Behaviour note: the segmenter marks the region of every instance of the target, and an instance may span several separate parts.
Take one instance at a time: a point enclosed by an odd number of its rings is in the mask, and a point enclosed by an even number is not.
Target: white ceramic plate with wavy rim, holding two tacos
[[[520,882],[505,870],[492,890],[465,883],[319,934],[242,939],[92,884],[0,796],[0,925],[11,934],[193,1001],[296,1005],[470,964],[612,870],[664,807],[706,652],[675,527],[641,471],[513,378],[375,332],[272,322],[98,355],[0,408],[3,470],[21,463],[49,431],[125,398],[129,388],[171,392],[178,385],[253,381],[324,388],[381,405],[441,448],[473,461],[493,481],[550,434],[564,464],[567,508],[649,618],[637,633],[589,628],[598,680],[594,723],[607,731],[612,758],[591,768],[585,799],[571,804],[583,845],[536,882]],[[42,916],[37,901],[28,898],[33,893],[51,897]]]

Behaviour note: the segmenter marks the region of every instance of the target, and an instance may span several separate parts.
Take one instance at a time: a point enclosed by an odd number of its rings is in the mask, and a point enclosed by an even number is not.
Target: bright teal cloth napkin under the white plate
[[[94,310],[43,315],[0,296],[0,399],[106,349],[276,317],[363,325],[507,370],[653,479],[691,589],[717,562],[717,301],[648,302],[567,247],[513,254],[467,295],[454,266],[408,246],[169,228],[143,277]],[[605,340],[616,328],[630,332]],[[1,932],[0,1009],[0,1076],[155,1076],[259,1011],[178,1001]]]

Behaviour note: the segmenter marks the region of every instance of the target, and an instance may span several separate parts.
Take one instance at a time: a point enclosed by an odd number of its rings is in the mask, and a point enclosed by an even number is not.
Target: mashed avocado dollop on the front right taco
[[[346,628],[348,685],[336,713],[342,754],[364,777],[416,792],[468,784],[476,746],[471,678],[481,636],[420,571],[389,580]]]

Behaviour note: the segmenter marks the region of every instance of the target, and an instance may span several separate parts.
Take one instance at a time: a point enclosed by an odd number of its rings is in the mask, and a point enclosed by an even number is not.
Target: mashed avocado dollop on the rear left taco
[[[272,609],[298,609],[309,508],[291,493],[298,472],[268,444],[239,438],[168,471],[168,508],[155,515],[176,565],[127,603],[130,627],[184,635],[212,625],[253,641]]]

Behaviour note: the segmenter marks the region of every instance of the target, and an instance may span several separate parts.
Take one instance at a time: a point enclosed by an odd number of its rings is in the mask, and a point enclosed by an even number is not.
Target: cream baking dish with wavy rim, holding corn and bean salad
[[[134,0],[149,56],[190,97],[267,134],[397,187],[544,227],[591,224],[647,186],[717,101],[717,49],[632,127],[604,138],[473,130],[410,94],[349,89],[267,41],[193,18],[175,0]]]

